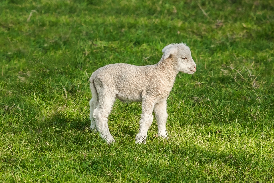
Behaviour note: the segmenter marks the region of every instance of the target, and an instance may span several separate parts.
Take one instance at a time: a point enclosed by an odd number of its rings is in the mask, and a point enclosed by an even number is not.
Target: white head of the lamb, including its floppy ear
[[[191,57],[191,51],[189,47],[184,43],[170,44],[164,47],[162,50],[164,53],[163,59],[172,57],[177,61],[178,71],[193,74],[196,71],[196,64]]]

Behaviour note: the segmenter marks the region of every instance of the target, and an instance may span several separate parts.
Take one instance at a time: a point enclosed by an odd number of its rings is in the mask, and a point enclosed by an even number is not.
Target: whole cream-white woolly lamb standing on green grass
[[[184,43],[170,44],[162,50],[155,65],[135,66],[126,63],[109,64],[94,71],[90,77],[90,128],[99,132],[107,143],[115,142],[108,128],[108,115],[116,98],[123,102],[142,102],[140,129],[136,144],[146,143],[154,110],[158,137],[168,139],[166,120],[167,98],[179,71],[193,74],[196,64],[190,48]]]

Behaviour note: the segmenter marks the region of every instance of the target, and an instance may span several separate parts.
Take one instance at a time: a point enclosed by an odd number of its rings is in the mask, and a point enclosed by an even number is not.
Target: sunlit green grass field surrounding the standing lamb
[[[168,140],[136,145],[140,103],[116,101],[117,143],[90,129],[88,77],[197,64],[168,98]],[[0,1],[0,182],[273,182],[274,1]]]

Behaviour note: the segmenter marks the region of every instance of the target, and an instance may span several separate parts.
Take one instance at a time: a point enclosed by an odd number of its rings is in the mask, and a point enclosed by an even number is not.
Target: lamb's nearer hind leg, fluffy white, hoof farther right
[[[96,129],[100,132],[101,137],[105,139],[108,144],[115,142],[108,128],[108,115],[112,110],[114,101],[114,97],[104,96],[104,98],[98,101],[98,105],[94,109],[92,116],[96,122]]]

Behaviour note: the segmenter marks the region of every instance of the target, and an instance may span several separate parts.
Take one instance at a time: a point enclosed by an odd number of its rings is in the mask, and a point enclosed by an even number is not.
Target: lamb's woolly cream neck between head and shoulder
[[[172,58],[168,58],[165,60],[160,60],[159,63],[157,63],[156,65],[158,66],[162,74],[160,77],[165,77],[166,80],[172,82],[173,84],[178,74],[176,67],[177,61],[173,60]]]

